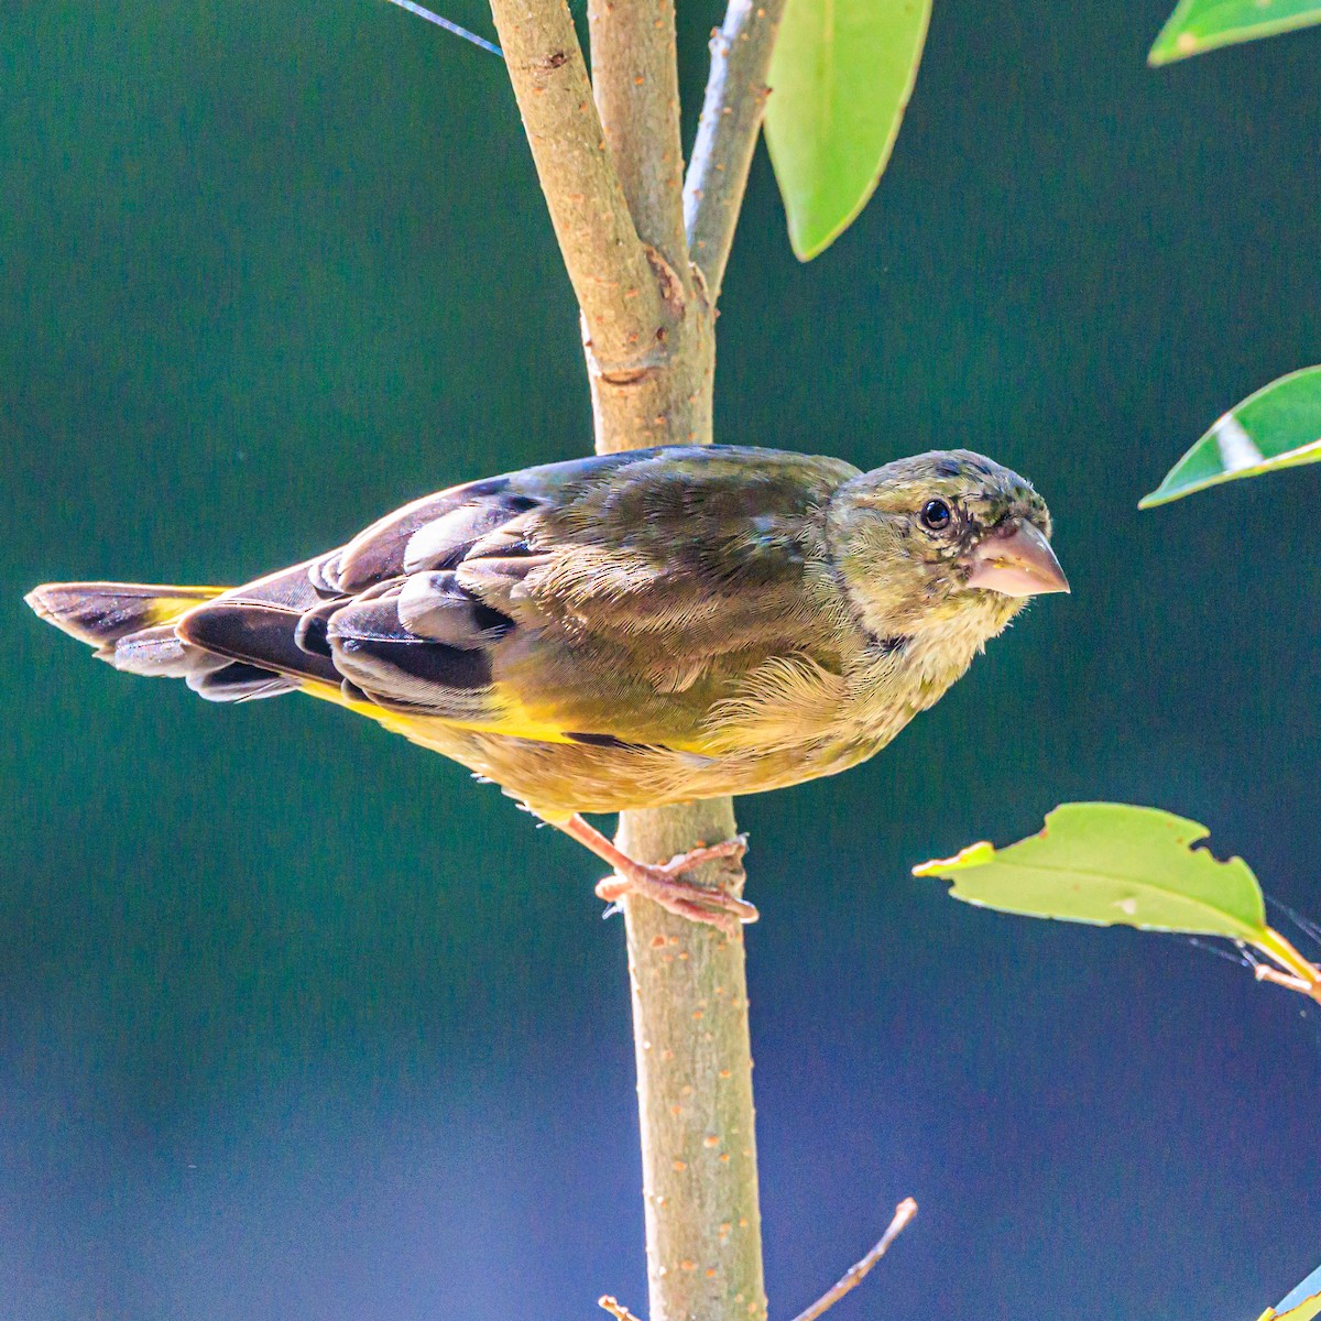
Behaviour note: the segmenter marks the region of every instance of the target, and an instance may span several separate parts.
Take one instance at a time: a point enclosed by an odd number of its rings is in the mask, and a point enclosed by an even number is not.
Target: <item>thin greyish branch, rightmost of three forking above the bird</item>
[[[734,240],[748,170],[766,112],[766,74],[785,0],[729,0],[711,33],[711,75],[683,188],[692,260],[715,303]]]

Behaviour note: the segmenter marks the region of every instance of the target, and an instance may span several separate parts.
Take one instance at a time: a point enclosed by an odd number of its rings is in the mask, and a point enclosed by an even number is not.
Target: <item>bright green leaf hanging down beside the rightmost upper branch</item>
[[[802,262],[872,196],[913,94],[931,0],[787,0],[766,145]]]

